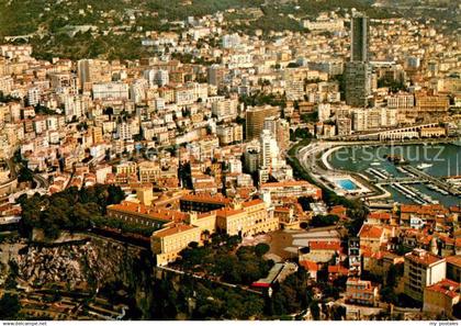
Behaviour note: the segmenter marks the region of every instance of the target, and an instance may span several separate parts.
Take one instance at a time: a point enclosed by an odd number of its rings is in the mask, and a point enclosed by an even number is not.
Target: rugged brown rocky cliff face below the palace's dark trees
[[[19,277],[31,286],[72,290],[125,290],[139,318],[149,318],[153,300],[150,252],[110,238],[85,235],[60,244],[31,244],[16,257]]]

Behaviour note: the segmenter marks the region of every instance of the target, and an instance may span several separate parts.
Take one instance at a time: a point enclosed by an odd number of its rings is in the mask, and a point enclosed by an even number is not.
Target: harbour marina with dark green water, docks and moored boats
[[[461,147],[407,145],[394,147],[344,147],[328,158],[334,168],[362,173],[386,190],[387,202],[443,204],[461,203]],[[353,158],[345,160],[345,151]],[[436,153],[437,151],[437,153]]]

